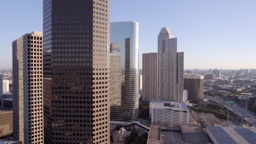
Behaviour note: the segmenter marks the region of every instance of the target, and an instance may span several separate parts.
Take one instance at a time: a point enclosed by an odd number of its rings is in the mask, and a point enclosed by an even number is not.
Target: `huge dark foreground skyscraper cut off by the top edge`
[[[44,143],[109,143],[109,1],[44,0]]]

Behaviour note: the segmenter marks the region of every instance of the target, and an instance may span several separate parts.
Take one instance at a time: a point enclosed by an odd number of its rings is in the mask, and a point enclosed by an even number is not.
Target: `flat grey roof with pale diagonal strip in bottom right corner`
[[[255,128],[207,127],[207,134],[213,144],[255,143]]]

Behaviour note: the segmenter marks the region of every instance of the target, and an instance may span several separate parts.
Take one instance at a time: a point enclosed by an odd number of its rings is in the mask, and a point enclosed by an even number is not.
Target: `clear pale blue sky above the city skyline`
[[[185,69],[256,69],[255,0],[111,0],[111,21],[140,23],[142,53],[157,52],[161,27],[178,38]],[[42,31],[42,0],[0,5],[0,69],[11,68],[11,42]],[[140,63],[141,67],[141,63]]]

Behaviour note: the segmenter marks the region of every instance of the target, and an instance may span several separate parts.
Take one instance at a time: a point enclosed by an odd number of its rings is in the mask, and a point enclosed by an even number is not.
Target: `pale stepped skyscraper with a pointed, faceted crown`
[[[183,101],[183,57],[183,52],[177,52],[177,38],[162,28],[158,35],[158,99]]]

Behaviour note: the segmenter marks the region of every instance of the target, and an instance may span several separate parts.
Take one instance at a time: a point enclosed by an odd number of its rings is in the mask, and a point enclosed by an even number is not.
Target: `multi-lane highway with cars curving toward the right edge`
[[[246,122],[252,124],[254,127],[256,127],[256,116],[252,115],[251,113],[247,112],[245,109],[242,109],[241,107],[237,106],[235,103],[233,104],[228,104],[226,101],[216,98],[216,97],[211,97],[208,95],[205,95],[206,98],[218,103],[219,105],[222,105],[226,107],[226,109],[229,109],[230,111],[236,113],[237,116],[240,116],[243,118]]]

